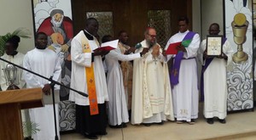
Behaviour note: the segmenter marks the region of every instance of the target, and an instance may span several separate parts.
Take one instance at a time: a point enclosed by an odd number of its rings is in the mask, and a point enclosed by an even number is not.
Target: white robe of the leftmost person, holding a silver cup
[[[12,55],[7,55],[6,53],[3,54],[3,56],[1,57],[2,59],[6,59],[8,60],[9,62],[12,62],[14,64],[17,64],[17,65],[20,65],[21,67],[23,66],[23,59],[24,59],[24,54],[22,53],[17,53],[15,56],[12,56]],[[8,82],[5,80],[5,77],[4,77],[4,72],[3,72],[3,69],[6,68],[6,65],[8,63],[0,60],[0,83],[1,83],[1,88],[3,91],[6,91],[6,89],[9,87],[9,85],[7,84]],[[25,81],[24,79],[22,78],[22,71],[21,69],[17,68],[17,78],[18,78],[18,81],[19,81],[19,84],[15,84],[16,86],[23,88],[25,86]]]

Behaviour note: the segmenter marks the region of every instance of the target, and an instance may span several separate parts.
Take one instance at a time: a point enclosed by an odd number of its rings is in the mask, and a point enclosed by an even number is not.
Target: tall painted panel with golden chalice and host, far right
[[[234,50],[227,69],[228,111],[253,109],[253,1],[225,0],[225,36]]]

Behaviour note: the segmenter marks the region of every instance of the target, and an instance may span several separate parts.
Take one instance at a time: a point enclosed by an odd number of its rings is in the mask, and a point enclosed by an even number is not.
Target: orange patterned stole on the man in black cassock
[[[88,39],[84,36],[81,38],[83,53],[91,53],[90,44]],[[97,95],[96,95],[96,85],[94,78],[94,66],[93,62],[90,67],[85,67],[86,74],[86,82],[87,82],[87,90],[89,95],[89,103],[90,103],[90,115],[98,115],[98,103],[97,103]]]

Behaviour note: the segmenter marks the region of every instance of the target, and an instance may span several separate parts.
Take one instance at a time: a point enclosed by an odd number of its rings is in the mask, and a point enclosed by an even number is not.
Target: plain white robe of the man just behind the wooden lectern
[[[53,76],[53,80],[61,80],[61,64],[57,55],[49,48],[38,49],[34,48],[27,52],[23,61],[23,66],[27,70],[32,70],[39,75],[50,77]],[[26,80],[27,88],[44,87],[49,81],[35,76],[32,73],[23,71],[24,79]],[[55,88],[59,89],[58,86]],[[50,95],[51,96],[51,95]],[[58,104],[55,104],[55,116],[57,124],[57,135],[60,139],[59,129],[59,111]],[[29,114],[32,122],[38,124],[40,130],[36,134],[32,135],[34,140],[54,140],[55,139],[55,120],[54,110],[52,104],[45,104],[44,107],[29,109]]]

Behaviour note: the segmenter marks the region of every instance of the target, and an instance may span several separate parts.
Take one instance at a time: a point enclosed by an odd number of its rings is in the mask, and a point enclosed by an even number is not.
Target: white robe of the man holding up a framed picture
[[[200,61],[204,65],[203,52],[207,46],[207,41],[201,42],[199,49]],[[218,117],[224,119],[227,115],[227,78],[226,67],[232,60],[232,48],[230,42],[226,41],[223,45],[223,53],[228,56],[228,63],[225,59],[212,59],[204,72],[204,111],[206,118]]]

